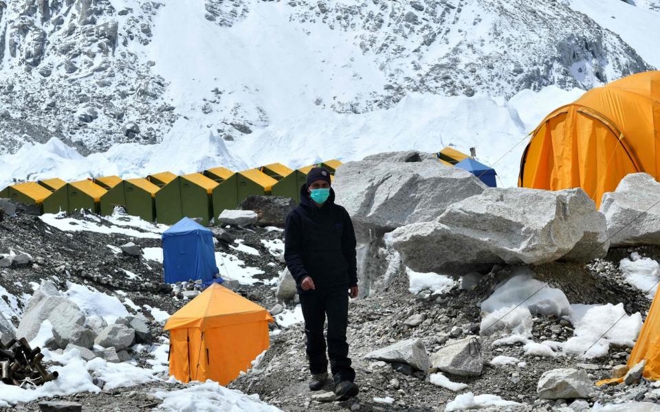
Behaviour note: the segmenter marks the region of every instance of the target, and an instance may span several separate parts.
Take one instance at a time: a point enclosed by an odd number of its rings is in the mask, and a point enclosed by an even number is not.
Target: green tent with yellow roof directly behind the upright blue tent
[[[174,225],[181,218],[201,218],[207,226],[213,217],[211,194],[217,182],[200,173],[177,176],[156,192],[156,216],[159,223]]]

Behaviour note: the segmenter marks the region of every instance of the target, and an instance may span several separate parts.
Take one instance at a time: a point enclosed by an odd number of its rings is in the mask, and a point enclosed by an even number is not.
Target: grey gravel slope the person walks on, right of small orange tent
[[[657,249],[649,250],[658,253]],[[627,251],[613,250],[608,256],[617,260],[617,255]],[[607,265],[607,260],[595,263],[606,270],[591,271],[586,267],[573,264],[549,264],[540,268],[539,273],[562,274],[554,278],[553,286],[566,290],[569,299],[576,303],[599,304],[611,301],[613,295],[624,299],[626,308],[634,311],[646,311],[650,301],[639,291],[622,282],[617,269]],[[423,374],[406,375],[395,371],[390,364],[375,362],[363,358],[364,354],[377,347],[409,338],[419,338],[428,352],[439,349],[452,337],[478,333],[481,313],[478,308],[492,292],[498,282],[509,275],[505,268],[491,273],[483,279],[475,290],[453,288],[442,295],[412,295],[408,291],[408,279],[400,273],[395,282],[375,297],[352,301],[350,306],[351,324],[349,325],[349,343],[353,365],[357,372],[356,381],[360,383],[360,396],[346,402],[321,403],[311,398],[307,390],[307,364],[302,325],[296,325],[274,339],[272,349],[267,352],[258,370],[237,379],[230,385],[248,393],[259,393],[268,402],[285,411],[443,411],[444,405],[456,397],[456,393],[432,385]],[[575,275],[580,275],[584,282],[575,282]],[[625,291],[625,293],[621,293]],[[412,314],[420,314],[424,319],[421,324],[411,327],[404,324]],[[561,330],[559,340],[565,340],[571,334],[562,327],[561,319],[537,318],[533,335],[551,336]],[[475,394],[493,393],[506,400],[520,402],[514,410],[549,410],[554,402],[538,400],[536,384],[539,376],[550,369],[560,367],[578,367],[585,369],[589,377],[595,380],[609,378],[613,365],[625,363],[630,348],[610,347],[610,356],[588,361],[568,357],[540,357],[523,354],[522,345],[492,346],[494,338],[481,341],[481,353],[485,361],[482,376],[451,376],[454,382],[464,382],[469,391]],[[525,367],[498,366],[488,364],[494,356],[514,356],[527,363]],[[641,385],[636,389],[635,399],[645,399]],[[646,387],[644,387],[646,388]],[[331,390],[328,382],[327,391]],[[652,389],[652,388],[650,388]],[[611,401],[613,394],[621,388],[607,388],[597,394],[599,400]],[[641,393],[641,394],[640,394]],[[620,398],[618,393],[614,398]],[[660,391],[648,396],[657,401]],[[392,405],[379,404],[374,398],[394,398]],[[630,398],[632,399],[632,398]],[[593,400],[591,401],[593,404]],[[545,408],[545,409],[544,409]],[[509,408],[510,409],[510,408]]]

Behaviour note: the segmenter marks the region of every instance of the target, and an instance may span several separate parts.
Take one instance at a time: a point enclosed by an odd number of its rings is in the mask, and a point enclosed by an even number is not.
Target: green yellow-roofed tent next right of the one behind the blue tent
[[[248,196],[270,194],[275,183],[275,179],[256,169],[232,174],[213,190],[215,216],[225,209],[236,209]]]

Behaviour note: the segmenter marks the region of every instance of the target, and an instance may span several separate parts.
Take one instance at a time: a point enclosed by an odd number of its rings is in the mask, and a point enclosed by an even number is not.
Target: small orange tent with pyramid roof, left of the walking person
[[[181,382],[207,379],[227,385],[270,345],[261,306],[212,284],[165,323],[170,331],[170,375]]]

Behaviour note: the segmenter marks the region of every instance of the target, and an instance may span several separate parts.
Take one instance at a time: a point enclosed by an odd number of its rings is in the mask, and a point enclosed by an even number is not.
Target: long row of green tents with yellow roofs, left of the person
[[[334,175],[341,164],[333,159],[317,165]],[[38,205],[43,213],[88,209],[109,216],[121,206],[126,213],[149,222],[157,216],[159,223],[173,225],[188,216],[208,225],[214,211],[236,209],[248,196],[272,194],[300,201],[300,186],[317,165],[292,170],[272,163],[241,172],[218,167],[182,176],[162,172],[138,179],[103,176],[68,183],[45,179],[10,185],[0,191],[0,198]]]

